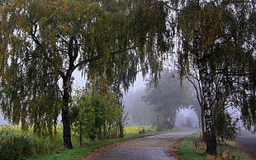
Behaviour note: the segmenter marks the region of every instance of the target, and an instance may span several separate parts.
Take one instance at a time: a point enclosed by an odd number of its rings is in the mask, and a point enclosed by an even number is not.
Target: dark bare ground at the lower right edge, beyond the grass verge
[[[252,159],[256,159],[256,134],[242,131],[235,140]]]

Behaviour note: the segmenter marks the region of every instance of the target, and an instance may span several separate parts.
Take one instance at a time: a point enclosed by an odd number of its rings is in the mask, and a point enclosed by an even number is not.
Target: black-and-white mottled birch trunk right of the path
[[[214,129],[214,98],[212,91],[212,78],[211,68],[209,66],[209,53],[201,50],[201,37],[200,31],[195,31],[194,49],[197,56],[197,68],[199,70],[199,76],[201,81],[201,112],[203,113],[205,125],[204,138],[206,140],[206,153],[216,155],[217,144],[216,144],[216,133]],[[203,125],[203,124],[202,124]],[[202,126],[203,127],[203,126]]]

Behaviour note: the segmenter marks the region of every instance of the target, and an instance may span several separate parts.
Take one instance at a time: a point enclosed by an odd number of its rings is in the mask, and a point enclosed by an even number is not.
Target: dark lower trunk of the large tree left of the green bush
[[[67,74],[63,78],[63,87],[64,87],[64,95],[63,101],[64,106],[62,108],[62,123],[63,123],[63,139],[64,139],[64,147],[67,149],[72,149],[73,145],[71,142],[71,129],[70,129],[70,121],[69,121],[69,97],[70,97],[70,78],[71,74]]]

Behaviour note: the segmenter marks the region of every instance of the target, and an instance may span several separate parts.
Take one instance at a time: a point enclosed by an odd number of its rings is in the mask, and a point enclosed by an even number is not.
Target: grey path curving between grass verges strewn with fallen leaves
[[[140,139],[133,139],[107,148],[105,152],[94,153],[89,160],[172,160],[176,159],[171,148],[185,135],[196,132],[197,129],[182,129],[175,133],[157,134]]]

